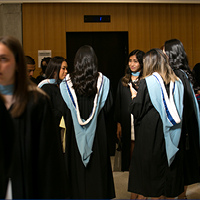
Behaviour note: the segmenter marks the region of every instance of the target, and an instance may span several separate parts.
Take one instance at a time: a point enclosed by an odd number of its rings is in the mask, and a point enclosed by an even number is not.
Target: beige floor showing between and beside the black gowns
[[[113,162],[114,156],[111,156],[112,165]],[[127,191],[128,175],[128,172],[113,172],[116,199],[130,199],[130,192]],[[188,186],[186,195],[188,199],[200,199],[200,183]]]

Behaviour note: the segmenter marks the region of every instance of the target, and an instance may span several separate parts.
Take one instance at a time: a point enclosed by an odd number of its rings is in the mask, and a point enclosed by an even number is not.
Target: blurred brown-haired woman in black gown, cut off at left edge
[[[10,36],[0,38],[0,85],[15,131],[8,198],[67,198],[63,153],[49,98],[28,79],[23,48]]]

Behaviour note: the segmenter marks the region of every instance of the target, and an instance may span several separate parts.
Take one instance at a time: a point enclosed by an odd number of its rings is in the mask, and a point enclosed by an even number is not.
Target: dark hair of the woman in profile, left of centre
[[[66,59],[61,56],[55,56],[50,59],[48,65],[47,65],[47,68],[46,68],[46,77],[49,79],[55,78],[58,85],[62,81],[59,79],[59,73],[60,73],[60,68],[61,68],[63,61],[66,61]],[[55,73],[56,73],[56,77],[54,77]]]

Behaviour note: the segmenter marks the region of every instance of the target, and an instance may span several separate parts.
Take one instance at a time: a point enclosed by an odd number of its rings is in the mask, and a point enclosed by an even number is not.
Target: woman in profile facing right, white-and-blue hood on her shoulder
[[[38,87],[44,90],[50,97],[55,122],[58,131],[61,131],[60,121],[63,116],[64,101],[60,94],[60,83],[67,75],[67,61],[65,58],[55,56],[51,58],[46,69],[46,79],[38,84]]]

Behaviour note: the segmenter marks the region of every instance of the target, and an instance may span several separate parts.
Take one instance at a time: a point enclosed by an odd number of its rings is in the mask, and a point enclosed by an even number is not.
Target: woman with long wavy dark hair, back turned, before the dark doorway
[[[110,81],[98,72],[91,46],[78,49],[74,71],[62,81],[60,89],[67,106],[65,160],[70,198],[114,198],[105,122],[113,98]]]

